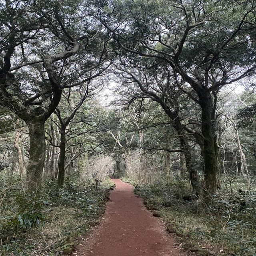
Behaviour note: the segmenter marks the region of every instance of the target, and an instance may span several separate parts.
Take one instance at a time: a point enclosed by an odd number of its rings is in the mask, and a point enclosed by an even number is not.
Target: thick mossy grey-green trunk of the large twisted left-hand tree
[[[40,192],[45,160],[44,121],[34,118],[27,122],[30,152],[26,175],[26,186],[32,192]]]

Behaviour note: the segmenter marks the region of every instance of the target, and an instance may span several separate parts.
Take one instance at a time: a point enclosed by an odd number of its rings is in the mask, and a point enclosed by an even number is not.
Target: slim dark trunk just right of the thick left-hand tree
[[[60,156],[58,163],[58,186],[63,187],[65,178],[65,158],[66,158],[66,127],[60,130]]]

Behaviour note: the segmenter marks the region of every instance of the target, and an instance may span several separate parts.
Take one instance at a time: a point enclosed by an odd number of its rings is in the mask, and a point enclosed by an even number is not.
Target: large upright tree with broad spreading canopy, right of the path
[[[152,58],[165,62],[176,86],[199,104],[204,188],[214,192],[217,96],[223,86],[255,71],[254,1],[115,2],[102,8],[99,18],[120,52],[137,56],[144,67]]]

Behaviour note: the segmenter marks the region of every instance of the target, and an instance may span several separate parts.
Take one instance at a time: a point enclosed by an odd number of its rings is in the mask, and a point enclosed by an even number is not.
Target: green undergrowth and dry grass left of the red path
[[[72,251],[74,240],[86,235],[104,213],[110,180],[78,184],[69,178],[64,188],[45,181],[40,198],[24,192],[17,177],[0,178],[0,256],[42,256]]]

